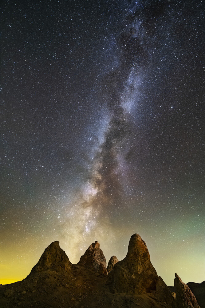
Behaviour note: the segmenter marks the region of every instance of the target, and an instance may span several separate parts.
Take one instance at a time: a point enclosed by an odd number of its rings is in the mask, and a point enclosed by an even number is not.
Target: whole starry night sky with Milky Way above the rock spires
[[[3,1],[0,283],[60,241],[139,233],[168,285],[204,278],[203,2]]]

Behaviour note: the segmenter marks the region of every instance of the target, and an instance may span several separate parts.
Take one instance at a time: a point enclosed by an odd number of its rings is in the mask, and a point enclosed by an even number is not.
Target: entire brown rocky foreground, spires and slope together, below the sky
[[[125,259],[111,257],[108,268],[99,243],[73,265],[56,241],[24,280],[0,286],[0,308],[199,308],[189,287],[175,277],[171,295],[138,234],[131,237]]]

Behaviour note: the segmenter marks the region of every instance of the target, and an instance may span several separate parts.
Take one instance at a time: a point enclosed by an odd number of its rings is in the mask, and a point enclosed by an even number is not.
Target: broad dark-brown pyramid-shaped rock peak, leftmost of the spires
[[[38,263],[34,265],[31,273],[44,270],[66,271],[71,270],[71,263],[65,251],[59,246],[59,241],[52,242],[41,255]]]

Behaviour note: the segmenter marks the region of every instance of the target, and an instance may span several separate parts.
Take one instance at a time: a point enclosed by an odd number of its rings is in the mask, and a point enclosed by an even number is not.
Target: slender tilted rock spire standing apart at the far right
[[[175,273],[174,286],[176,292],[176,304],[179,308],[200,308],[194,294],[189,287],[182,282]]]

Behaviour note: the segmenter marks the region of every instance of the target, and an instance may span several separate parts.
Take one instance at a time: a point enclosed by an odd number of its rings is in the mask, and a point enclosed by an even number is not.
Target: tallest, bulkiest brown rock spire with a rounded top
[[[133,234],[126,257],[108,274],[110,290],[136,294],[150,292],[156,290],[157,278],[147,245],[139,234]]]

